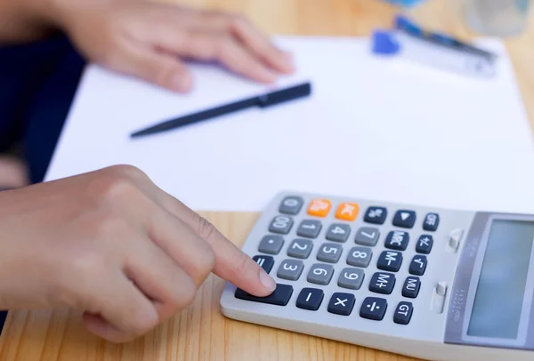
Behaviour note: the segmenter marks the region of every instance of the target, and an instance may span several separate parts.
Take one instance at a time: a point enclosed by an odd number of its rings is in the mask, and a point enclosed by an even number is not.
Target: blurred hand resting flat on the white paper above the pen
[[[290,55],[238,15],[144,0],[52,1],[86,59],[173,91],[191,88],[187,59],[218,60],[265,83],[293,71]]]

